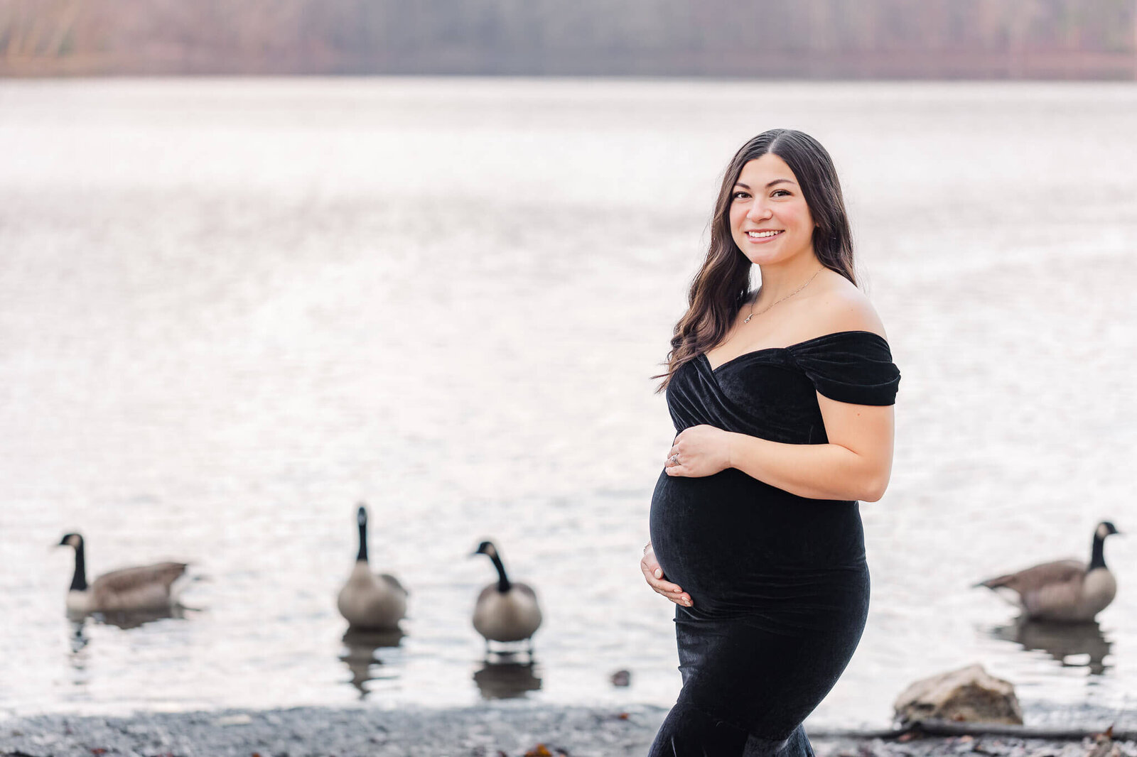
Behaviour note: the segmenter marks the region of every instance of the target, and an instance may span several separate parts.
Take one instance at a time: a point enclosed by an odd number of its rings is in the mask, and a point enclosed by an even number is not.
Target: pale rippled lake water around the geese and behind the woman
[[[969,587],[1137,531],[1137,88],[115,80],[0,82],[0,713],[670,705],[649,377],[773,126],[833,155],[903,373],[869,625],[811,723],[972,662],[1132,706],[1131,539],[1081,637],[1016,642]],[[395,648],[335,610],[360,500]],[[72,530],[90,574],[191,560],[198,609],[75,638]],[[533,668],[483,663],[484,536],[541,594]]]

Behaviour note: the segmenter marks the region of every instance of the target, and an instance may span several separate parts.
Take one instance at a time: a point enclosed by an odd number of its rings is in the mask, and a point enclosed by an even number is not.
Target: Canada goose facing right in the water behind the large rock
[[[1010,589],[1018,594],[1014,604],[1036,621],[1078,623],[1093,621],[1118,593],[1118,582],[1105,567],[1105,538],[1121,533],[1109,521],[1094,530],[1089,565],[1078,560],[1056,560],[1001,575],[977,583],[991,590]]]

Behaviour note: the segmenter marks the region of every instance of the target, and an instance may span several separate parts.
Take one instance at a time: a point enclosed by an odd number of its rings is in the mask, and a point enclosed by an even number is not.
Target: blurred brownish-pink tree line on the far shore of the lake
[[[1137,0],[0,0],[0,75],[1137,78]]]

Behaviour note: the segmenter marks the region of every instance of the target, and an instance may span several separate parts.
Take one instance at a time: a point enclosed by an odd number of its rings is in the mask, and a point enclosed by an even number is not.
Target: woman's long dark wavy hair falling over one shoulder
[[[691,281],[687,313],[675,324],[667,352],[667,372],[658,391],[671,383],[684,363],[721,342],[742,305],[750,299],[750,260],[742,255],[730,232],[730,206],[735,183],[742,166],[772,152],[790,167],[802,188],[813,222],[813,251],[830,271],[856,284],[853,273],[853,235],[837,169],[818,140],[790,128],[762,132],[744,144],[727,166],[711,221],[711,247],[703,267]]]

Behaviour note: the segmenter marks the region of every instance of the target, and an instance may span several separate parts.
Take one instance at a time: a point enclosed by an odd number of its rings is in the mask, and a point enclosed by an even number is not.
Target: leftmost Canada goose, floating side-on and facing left
[[[185,573],[185,563],[155,563],[103,573],[90,584],[86,582],[86,557],[83,536],[64,534],[58,547],[75,549],[75,575],[67,591],[67,612],[132,613],[168,610],[177,604],[173,584]]]

